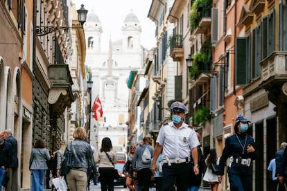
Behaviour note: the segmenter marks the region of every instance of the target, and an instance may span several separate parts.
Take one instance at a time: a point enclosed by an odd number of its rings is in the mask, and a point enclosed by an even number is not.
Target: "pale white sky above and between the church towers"
[[[152,0],[73,0],[76,10],[84,4],[86,10],[94,10],[100,19],[103,27],[103,49],[108,47],[110,38],[112,42],[122,39],[121,26],[130,10],[137,15],[141,24],[141,45],[148,49],[155,47],[155,23],[148,18],[151,2]]]

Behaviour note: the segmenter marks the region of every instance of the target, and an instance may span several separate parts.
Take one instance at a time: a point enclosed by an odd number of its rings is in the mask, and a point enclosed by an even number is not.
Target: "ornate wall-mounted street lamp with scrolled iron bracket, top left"
[[[86,19],[87,19],[87,10],[85,10],[84,5],[81,5],[81,8],[77,10],[78,12],[78,21],[80,26],[35,26],[36,36],[44,36],[49,33],[53,33],[56,30],[68,30],[69,28],[82,28]]]

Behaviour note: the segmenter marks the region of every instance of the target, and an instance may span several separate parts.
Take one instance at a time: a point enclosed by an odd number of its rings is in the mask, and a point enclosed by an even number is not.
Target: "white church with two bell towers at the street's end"
[[[92,10],[84,25],[87,44],[85,65],[92,73],[92,104],[100,98],[103,117],[91,119],[90,144],[96,149],[101,140],[109,137],[117,152],[125,152],[128,141],[129,89],[127,80],[131,71],[143,69],[148,50],[141,46],[141,24],[131,10],[125,17],[121,31],[122,39],[111,37],[103,49],[102,34],[105,30]]]

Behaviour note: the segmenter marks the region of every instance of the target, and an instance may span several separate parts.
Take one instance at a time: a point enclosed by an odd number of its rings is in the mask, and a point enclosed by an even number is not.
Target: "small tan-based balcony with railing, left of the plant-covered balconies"
[[[169,47],[171,48],[170,56],[173,58],[174,62],[179,62],[184,57],[182,41],[182,35],[173,35],[168,40]]]

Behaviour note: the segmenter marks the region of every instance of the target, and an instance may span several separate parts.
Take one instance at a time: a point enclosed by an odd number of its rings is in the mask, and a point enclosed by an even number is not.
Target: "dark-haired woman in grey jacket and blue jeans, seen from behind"
[[[46,142],[44,139],[36,141],[32,149],[29,163],[29,170],[32,173],[32,186],[31,190],[43,191],[44,190],[44,175],[48,170],[47,161],[50,161],[51,156],[49,149],[46,149]]]

